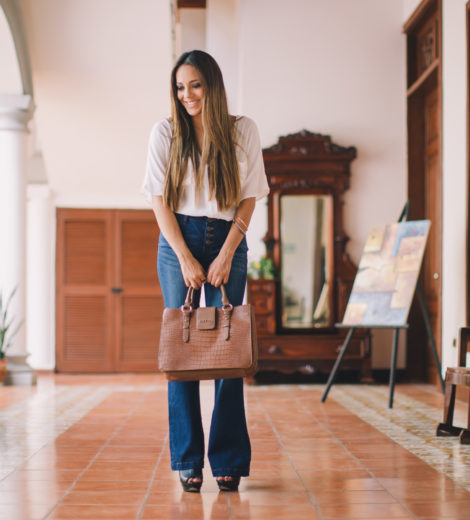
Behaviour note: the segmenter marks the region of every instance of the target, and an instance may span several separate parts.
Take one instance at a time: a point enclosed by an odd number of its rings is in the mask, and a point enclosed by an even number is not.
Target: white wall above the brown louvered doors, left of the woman
[[[148,135],[169,113],[170,2],[21,4],[57,205],[143,206]]]

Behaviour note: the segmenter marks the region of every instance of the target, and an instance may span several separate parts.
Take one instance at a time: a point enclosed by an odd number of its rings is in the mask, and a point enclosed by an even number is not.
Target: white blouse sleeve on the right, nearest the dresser
[[[240,145],[246,154],[246,175],[241,176],[240,200],[266,197],[269,193],[268,180],[264,170],[263,154],[258,128],[253,120],[243,117],[243,125],[239,128]]]

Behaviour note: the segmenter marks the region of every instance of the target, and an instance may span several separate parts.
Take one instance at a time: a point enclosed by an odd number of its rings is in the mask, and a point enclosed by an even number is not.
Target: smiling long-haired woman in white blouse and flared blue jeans
[[[143,191],[160,228],[158,277],[165,307],[187,288],[195,305],[221,306],[224,284],[240,305],[246,283],[245,233],[255,202],[269,189],[255,124],[230,116],[222,73],[203,51],[184,53],[171,73],[171,118],[151,133]],[[199,381],[168,382],[171,467],[185,491],[199,492],[204,465]],[[251,448],[243,380],[215,381],[208,458],[220,490],[248,476]]]

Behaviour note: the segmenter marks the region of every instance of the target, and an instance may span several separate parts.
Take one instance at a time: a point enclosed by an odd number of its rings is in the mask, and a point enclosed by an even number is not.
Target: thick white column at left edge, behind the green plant
[[[26,318],[26,174],[30,96],[0,96],[0,289],[17,287],[10,316]],[[34,384],[26,363],[26,321],[7,352],[5,384]]]

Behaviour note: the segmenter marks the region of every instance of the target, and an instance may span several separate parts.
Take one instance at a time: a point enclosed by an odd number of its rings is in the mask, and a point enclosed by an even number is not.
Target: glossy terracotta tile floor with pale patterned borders
[[[200,495],[169,469],[159,375],[40,374],[0,387],[0,518],[470,519],[470,446],[434,436],[443,397],[399,385],[247,386],[251,477]],[[202,384],[204,423],[212,383]],[[456,422],[466,410],[457,406]]]

